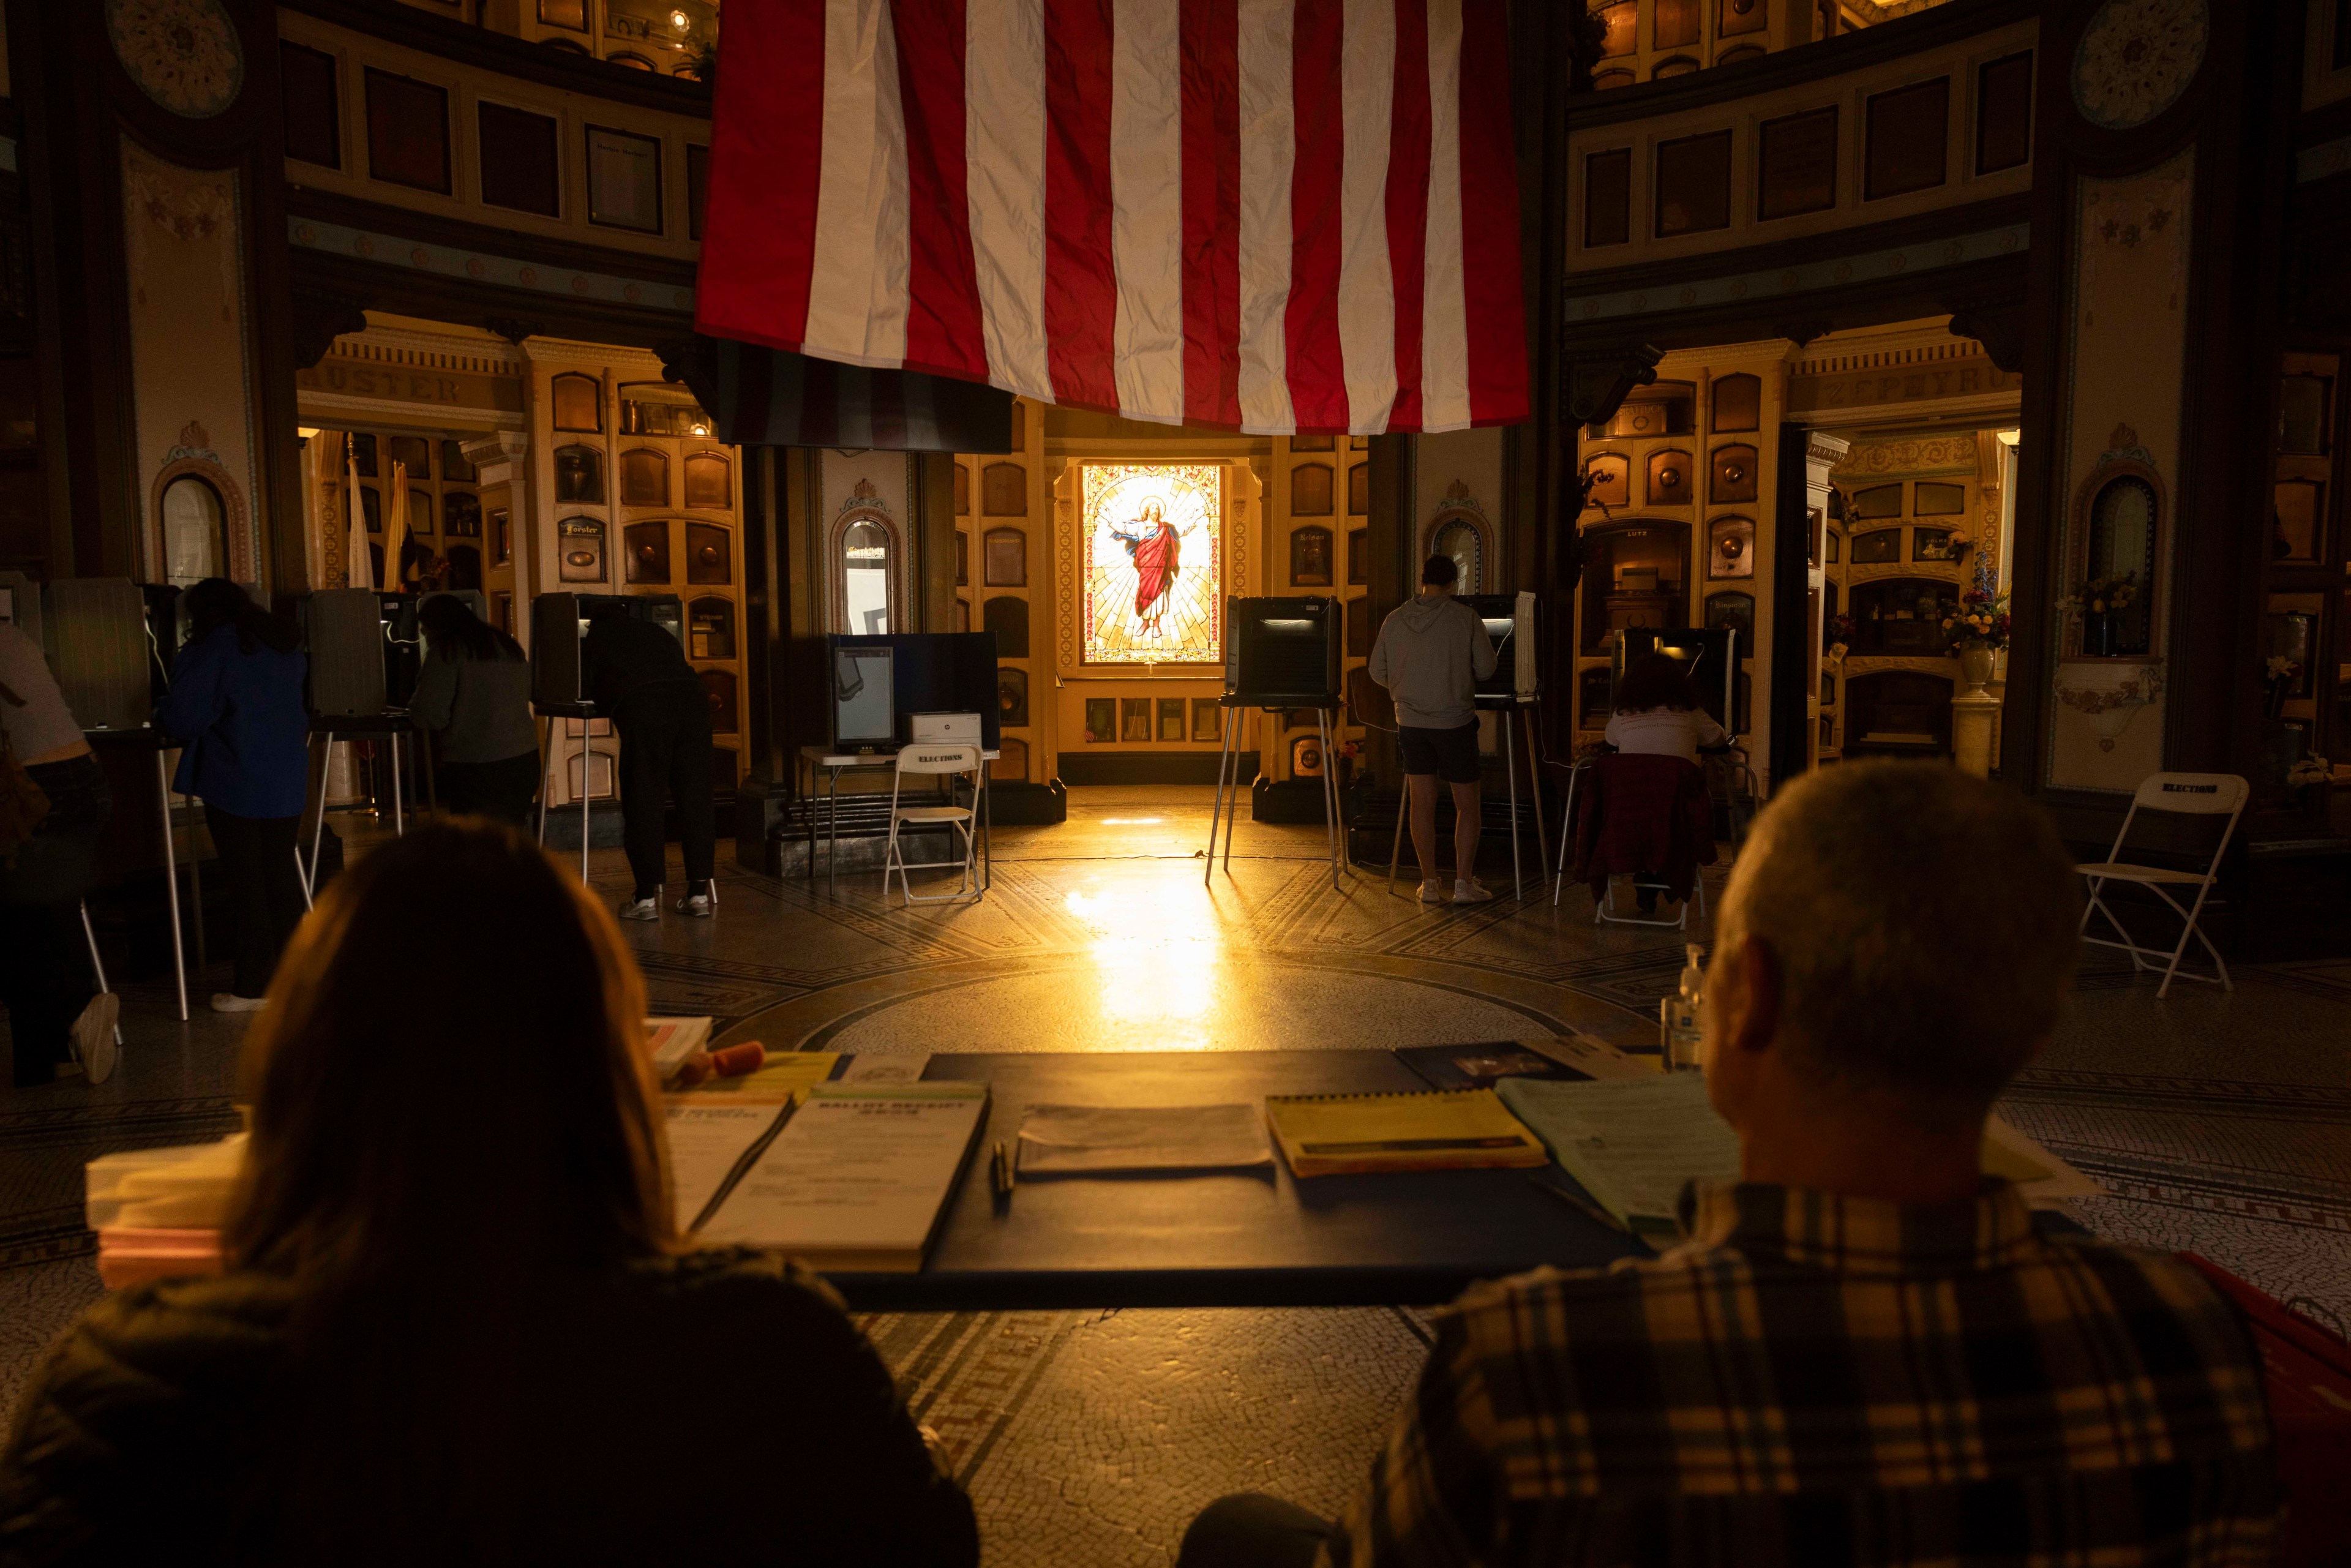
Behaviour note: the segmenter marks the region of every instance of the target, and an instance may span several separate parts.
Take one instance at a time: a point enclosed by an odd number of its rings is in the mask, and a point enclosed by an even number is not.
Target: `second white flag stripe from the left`
[[[987,381],[1053,402],[1044,341],[1044,0],[964,0],[964,148]]]

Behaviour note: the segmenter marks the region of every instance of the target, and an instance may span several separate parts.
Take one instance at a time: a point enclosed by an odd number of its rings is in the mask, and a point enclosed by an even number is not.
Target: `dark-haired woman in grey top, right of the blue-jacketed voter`
[[[531,665],[522,646],[451,592],[416,611],[426,661],[409,717],[435,733],[442,799],[458,816],[491,816],[522,827],[538,797],[538,729],[531,724]]]

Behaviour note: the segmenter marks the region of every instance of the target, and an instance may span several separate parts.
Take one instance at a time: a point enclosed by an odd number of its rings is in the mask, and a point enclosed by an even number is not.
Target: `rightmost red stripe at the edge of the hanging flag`
[[[1476,87],[1472,87],[1472,82]],[[1469,418],[1526,418],[1526,294],[1519,277],[1519,153],[1509,125],[1502,0],[1462,0],[1462,317]]]

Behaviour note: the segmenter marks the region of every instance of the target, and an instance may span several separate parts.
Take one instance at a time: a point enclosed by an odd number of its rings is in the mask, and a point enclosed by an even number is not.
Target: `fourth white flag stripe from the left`
[[[1291,409],[1291,0],[1239,0],[1241,21],[1241,428],[1288,435]]]

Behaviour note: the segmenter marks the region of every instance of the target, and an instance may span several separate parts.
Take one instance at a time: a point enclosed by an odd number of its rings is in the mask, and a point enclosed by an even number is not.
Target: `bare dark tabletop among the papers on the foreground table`
[[[924,1079],[990,1086],[987,1126],[919,1274],[832,1274],[860,1312],[1387,1307],[1448,1302],[1535,1265],[1646,1251],[1531,1178],[1420,1171],[1295,1180],[1267,1168],[1056,1175],[997,1199],[987,1152],[1027,1105],[1262,1105],[1427,1084],[1387,1051],[938,1053]]]

